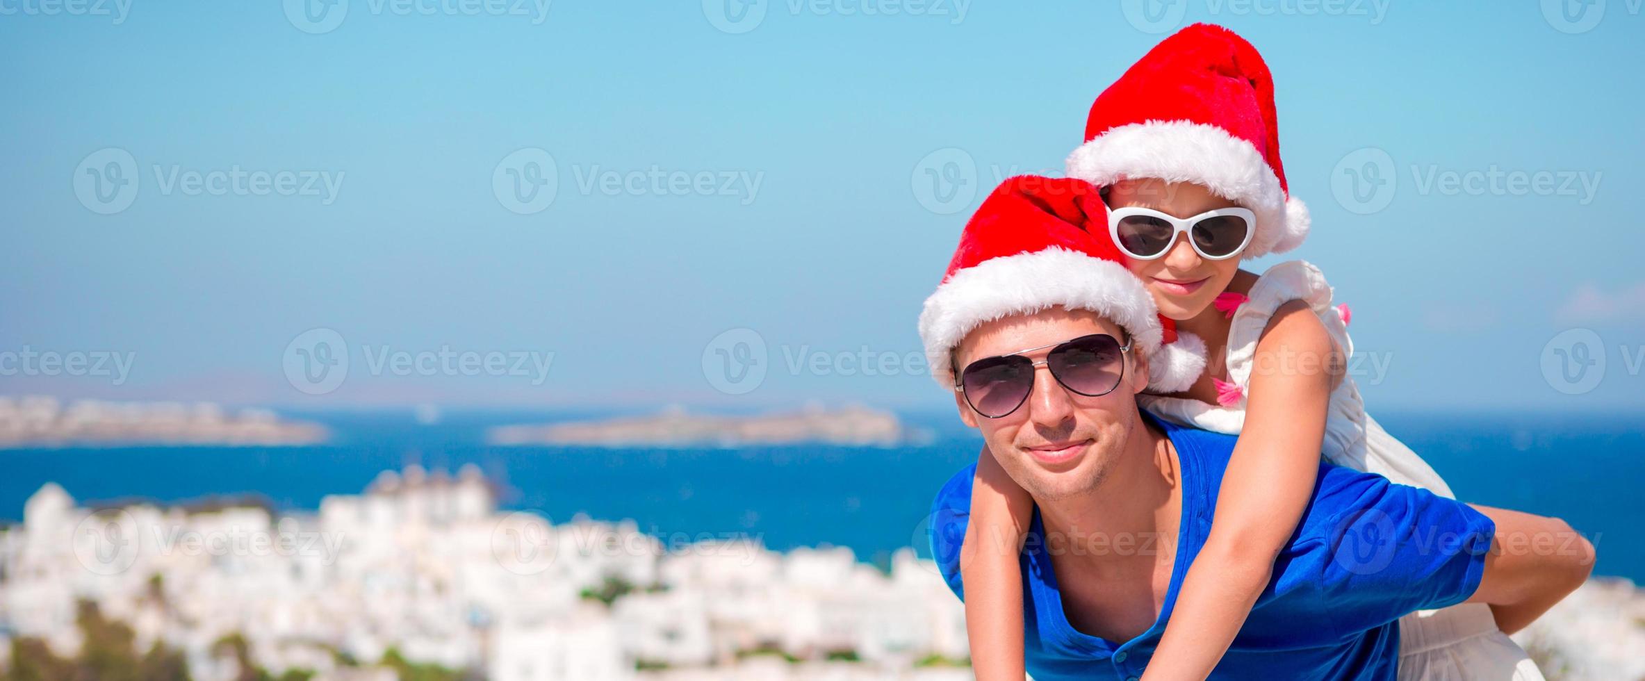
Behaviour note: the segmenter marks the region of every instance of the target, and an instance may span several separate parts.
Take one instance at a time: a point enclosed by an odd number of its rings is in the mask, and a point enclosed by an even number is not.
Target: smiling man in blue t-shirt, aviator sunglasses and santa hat
[[[1142,676],[1234,449],[1232,436],[1137,408],[1165,329],[1137,304],[1147,294],[1112,245],[1081,229],[1086,211],[1101,211],[1092,191],[1007,181],[967,224],[920,324],[961,419],[1036,507],[1020,564],[1025,663],[1038,681]],[[933,505],[933,551],[961,599],[961,556],[975,549],[966,543],[997,540],[967,535],[972,480],[974,466]],[[1214,676],[1393,679],[1398,617],[1457,602],[1536,617],[1592,561],[1559,520],[1321,464],[1303,521]]]

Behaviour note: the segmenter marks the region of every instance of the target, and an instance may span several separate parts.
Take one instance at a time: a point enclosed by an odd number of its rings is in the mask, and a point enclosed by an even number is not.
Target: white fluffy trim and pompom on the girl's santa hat
[[[1097,186],[1127,178],[1204,184],[1257,214],[1242,258],[1283,253],[1308,237],[1308,207],[1286,201],[1273,168],[1250,141],[1216,125],[1150,120],[1112,128],[1068,156],[1068,176]]]

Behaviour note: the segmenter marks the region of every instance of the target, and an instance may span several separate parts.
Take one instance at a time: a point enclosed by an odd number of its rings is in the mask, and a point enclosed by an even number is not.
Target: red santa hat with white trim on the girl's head
[[[1257,214],[1242,258],[1283,253],[1308,237],[1308,207],[1280,163],[1273,77],[1250,43],[1196,23],[1163,39],[1097,95],[1068,176],[1196,183]]]

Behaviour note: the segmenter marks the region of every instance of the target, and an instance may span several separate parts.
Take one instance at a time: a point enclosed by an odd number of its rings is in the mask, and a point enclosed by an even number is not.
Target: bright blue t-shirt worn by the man
[[[1183,479],[1176,559],[1160,617],[1128,642],[1092,637],[1069,625],[1050,553],[1068,549],[1068,543],[1046,543],[1035,507],[1022,574],[1025,660],[1036,681],[1140,678],[1165,633],[1183,576],[1211,531],[1235,438],[1181,428],[1147,413],[1143,418],[1171,438]],[[933,556],[961,600],[966,594],[959,546],[975,467],[954,474],[931,507]],[[1490,518],[1466,503],[1321,462],[1314,493],[1273,564],[1273,579],[1211,676],[1393,679],[1400,653],[1397,620],[1413,610],[1467,600],[1484,576],[1495,530]]]

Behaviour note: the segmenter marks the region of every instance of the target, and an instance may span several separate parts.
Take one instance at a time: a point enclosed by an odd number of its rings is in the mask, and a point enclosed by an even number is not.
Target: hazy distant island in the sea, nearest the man
[[[760,416],[689,415],[671,406],[656,416],[498,426],[487,431],[485,439],[495,446],[742,447],[826,442],[888,447],[905,442],[908,433],[895,415],[865,406],[808,406]]]

